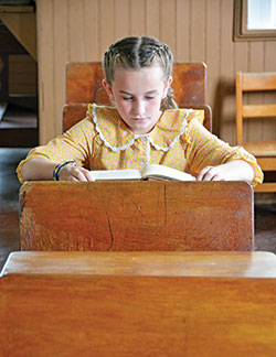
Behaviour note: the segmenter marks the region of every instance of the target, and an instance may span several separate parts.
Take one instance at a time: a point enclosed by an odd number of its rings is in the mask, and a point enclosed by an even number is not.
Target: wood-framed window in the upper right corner
[[[235,0],[234,41],[276,40],[276,0]]]

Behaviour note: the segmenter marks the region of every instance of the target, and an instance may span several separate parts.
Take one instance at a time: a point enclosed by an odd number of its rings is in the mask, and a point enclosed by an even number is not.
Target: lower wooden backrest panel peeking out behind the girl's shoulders
[[[208,105],[189,105],[185,108],[204,110],[204,127],[212,131],[212,110]],[[63,107],[63,131],[68,130],[75,123],[85,118],[87,110],[86,104],[71,104]]]

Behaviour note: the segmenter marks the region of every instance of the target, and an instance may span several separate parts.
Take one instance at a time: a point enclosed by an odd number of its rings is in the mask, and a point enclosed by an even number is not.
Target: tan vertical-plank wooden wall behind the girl
[[[276,41],[233,42],[234,0],[36,0],[40,142],[62,131],[65,64],[100,61],[127,35],[167,42],[177,62],[205,62],[213,131],[235,143],[235,73],[276,71]],[[262,96],[257,100],[273,100]],[[250,139],[276,139],[276,125],[250,123]]]

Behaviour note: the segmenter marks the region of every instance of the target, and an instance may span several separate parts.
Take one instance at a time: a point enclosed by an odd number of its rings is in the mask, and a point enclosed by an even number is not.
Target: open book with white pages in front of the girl
[[[96,181],[100,180],[161,180],[161,181],[195,181],[192,175],[164,165],[152,164],[142,170],[100,170],[92,171]]]

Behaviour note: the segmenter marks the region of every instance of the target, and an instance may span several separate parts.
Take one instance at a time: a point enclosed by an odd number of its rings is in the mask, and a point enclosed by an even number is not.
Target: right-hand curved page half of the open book
[[[170,181],[195,181],[192,175],[171,169],[164,165],[152,164],[146,166],[142,171],[142,178],[170,180]]]

